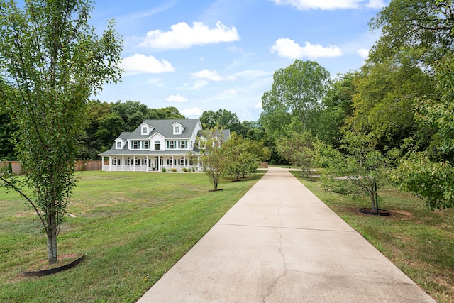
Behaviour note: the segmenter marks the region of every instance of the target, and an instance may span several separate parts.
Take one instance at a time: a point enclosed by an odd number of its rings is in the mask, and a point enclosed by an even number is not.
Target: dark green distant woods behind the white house
[[[102,102],[90,100],[84,113],[85,128],[82,138],[81,160],[99,159],[98,154],[109,150],[122,131],[134,131],[146,119],[185,119],[173,106],[148,108],[139,101]],[[215,126],[267,145],[265,129],[259,122],[240,122],[238,116],[226,109],[204,111],[201,123],[205,129]],[[18,128],[6,111],[0,109],[0,160],[16,160],[14,138]]]

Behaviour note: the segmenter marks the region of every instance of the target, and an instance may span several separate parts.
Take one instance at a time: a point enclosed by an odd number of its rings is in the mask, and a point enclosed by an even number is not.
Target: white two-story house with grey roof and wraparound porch
[[[189,153],[197,154],[199,131],[199,119],[145,120],[135,131],[121,133],[110,150],[99,154],[102,170],[198,170],[197,160]]]

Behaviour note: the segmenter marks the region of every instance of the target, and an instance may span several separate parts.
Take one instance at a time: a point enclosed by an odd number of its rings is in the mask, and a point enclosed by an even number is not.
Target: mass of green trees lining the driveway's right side
[[[275,72],[262,96],[272,148],[304,170],[348,177],[370,195],[392,182],[428,209],[454,205],[454,4],[392,0],[372,18],[381,31],[359,70],[330,79],[317,62]],[[345,184],[345,182],[343,182]]]

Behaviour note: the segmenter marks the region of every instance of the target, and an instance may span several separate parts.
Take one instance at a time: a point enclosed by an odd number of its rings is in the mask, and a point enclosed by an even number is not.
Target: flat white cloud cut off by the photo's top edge
[[[277,5],[294,6],[300,11],[309,9],[360,9],[366,6],[371,9],[380,9],[386,4],[384,0],[272,0]]]

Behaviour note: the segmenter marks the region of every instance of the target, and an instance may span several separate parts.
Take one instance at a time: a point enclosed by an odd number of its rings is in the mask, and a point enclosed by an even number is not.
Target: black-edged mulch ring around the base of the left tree
[[[34,263],[27,270],[24,270],[22,274],[25,277],[41,277],[43,275],[51,275],[62,270],[68,270],[73,268],[82,260],[85,255],[73,253],[71,255],[59,255],[57,257],[57,263],[49,264],[48,260],[40,260],[38,263]]]

